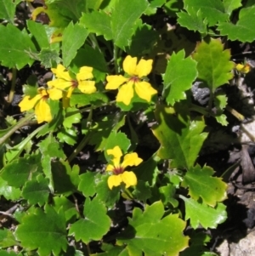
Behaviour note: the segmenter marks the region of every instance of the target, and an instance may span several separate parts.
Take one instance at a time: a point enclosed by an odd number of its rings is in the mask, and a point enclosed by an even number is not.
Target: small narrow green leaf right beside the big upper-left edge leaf
[[[31,31],[31,35],[35,38],[39,46],[39,49],[48,48],[49,41],[48,41],[47,32],[45,30],[45,26],[33,20],[26,20],[26,25],[29,31]]]

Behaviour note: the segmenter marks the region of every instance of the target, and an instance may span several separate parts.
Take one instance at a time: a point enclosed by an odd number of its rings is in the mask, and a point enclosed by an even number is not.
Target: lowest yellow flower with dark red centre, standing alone
[[[113,159],[111,160],[112,164],[108,164],[106,171],[111,172],[111,175],[107,182],[110,189],[113,186],[118,186],[124,183],[126,189],[131,185],[137,185],[137,179],[135,174],[132,171],[125,171],[127,166],[138,166],[143,159],[139,158],[137,153],[130,153],[124,156],[123,161],[121,162],[122,158],[122,151],[118,145],[116,145],[112,150],[106,151],[108,155],[112,155]]]

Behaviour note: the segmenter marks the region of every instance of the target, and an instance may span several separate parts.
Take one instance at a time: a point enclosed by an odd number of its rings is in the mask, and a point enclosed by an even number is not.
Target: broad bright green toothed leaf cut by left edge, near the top
[[[8,68],[17,67],[20,70],[25,65],[31,65],[34,60],[28,56],[28,52],[36,52],[31,38],[21,32],[16,26],[8,24],[0,25],[0,61]]]

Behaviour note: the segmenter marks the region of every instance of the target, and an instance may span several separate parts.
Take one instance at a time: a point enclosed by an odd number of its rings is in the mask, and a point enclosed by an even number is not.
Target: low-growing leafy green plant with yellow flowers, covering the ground
[[[197,159],[249,71],[226,42],[251,43],[254,17],[241,0],[0,1],[1,255],[216,255],[227,185]]]

